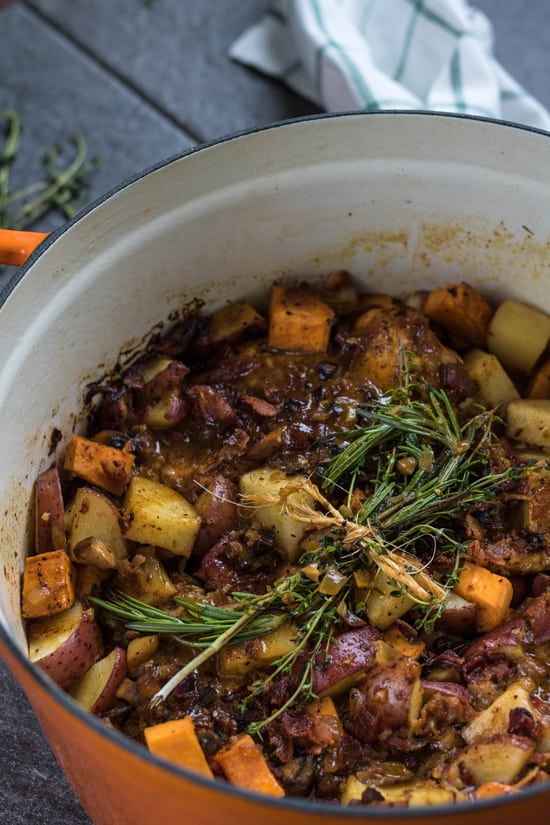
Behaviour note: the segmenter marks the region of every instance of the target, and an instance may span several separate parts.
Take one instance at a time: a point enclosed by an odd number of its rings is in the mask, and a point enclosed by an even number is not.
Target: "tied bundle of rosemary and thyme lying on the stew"
[[[93,600],[128,628],[172,633],[200,648],[153,697],[153,704],[164,701],[222,648],[260,638],[286,621],[296,628],[296,645],[271,663],[245,704],[278,676],[295,674],[297,663],[301,678],[283,707],[252,724],[251,732],[257,733],[285,708],[315,695],[312,663],[328,650],[339,625],[368,620],[365,601],[354,602],[354,579],[361,573],[367,573],[373,588],[382,575],[396,595],[410,597],[421,611],[419,627],[429,627],[440,615],[463,558],[461,515],[475,502],[495,501],[502,485],[517,476],[514,467],[491,469],[499,419],[481,410],[461,423],[443,390],[408,378],[402,387],[358,409],[357,418],[353,430],[338,436],[342,448],[321,476],[322,488],[344,499],[339,507],[312,482],[292,480],[277,500],[265,493],[243,499],[251,508],[277,504],[319,531],[318,542],[302,553],[299,569],[265,594],[233,593],[233,604],[223,608],[176,598],[184,608],[177,620],[126,596]],[[353,497],[359,485],[363,500],[358,506]],[[305,489],[313,504],[293,497],[297,489]],[[450,554],[445,572],[433,569],[430,547],[439,556]]]

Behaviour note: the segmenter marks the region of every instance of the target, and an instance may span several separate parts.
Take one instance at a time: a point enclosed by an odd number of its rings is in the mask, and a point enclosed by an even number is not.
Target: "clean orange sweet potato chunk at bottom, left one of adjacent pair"
[[[190,716],[152,725],[144,729],[143,735],[152,753],[190,771],[212,777]]]

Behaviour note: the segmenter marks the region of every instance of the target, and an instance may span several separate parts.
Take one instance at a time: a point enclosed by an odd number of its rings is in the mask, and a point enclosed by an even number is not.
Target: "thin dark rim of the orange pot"
[[[478,115],[468,115],[456,112],[434,112],[423,109],[384,109],[377,111],[342,111],[329,113],[322,112],[320,114],[289,118],[286,120],[279,120],[272,123],[267,123],[262,126],[250,127],[248,129],[231,132],[226,135],[222,135],[218,138],[215,138],[211,141],[198,143],[195,146],[192,146],[181,152],[170,155],[164,160],[158,161],[157,163],[154,163],[151,166],[146,167],[145,169],[141,170],[140,172],[137,172],[129,178],[124,179],[119,184],[107,190],[98,198],[94,199],[70,221],[67,221],[66,223],[59,226],[57,229],[53,230],[50,234],[48,234],[45,240],[42,241],[42,243],[31,253],[31,255],[25,261],[25,263],[15,271],[15,273],[8,281],[8,283],[0,291],[0,308],[7,301],[15,287],[25,277],[27,272],[32,268],[34,263],[51,246],[51,244],[55,243],[58,240],[58,238],[62,237],[65,234],[65,232],[67,232],[74,224],[78,223],[86,215],[93,212],[97,207],[99,207],[101,204],[109,200],[113,195],[118,194],[119,192],[136,183],[137,181],[141,180],[142,178],[145,178],[147,175],[156,172],[166,166],[169,166],[170,164],[176,161],[182,160],[185,157],[194,155],[197,152],[201,152],[205,149],[209,149],[211,147],[227,143],[237,138],[246,137],[247,135],[258,134],[261,132],[271,131],[273,129],[292,128],[293,126],[299,126],[300,124],[308,122],[333,120],[336,118],[345,119],[350,117],[357,118],[372,116],[387,118],[392,118],[394,116],[406,116],[409,118],[451,118],[460,121],[465,120],[471,122],[493,124],[497,127],[509,128],[519,132],[531,132],[550,139],[550,132],[547,132],[543,129],[539,129],[534,126],[528,126],[513,121],[498,120],[496,118]],[[65,711],[74,715],[77,718],[77,720],[82,722],[84,725],[89,725],[95,733],[106,738],[111,744],[125,749],[131,756],[151,762],[155,767],[161,770],[169,771],[174,776],[201,785],[205,790],[214,791],[216,794],[220,794],[221,796],[228,795],[229,797],[240,798],[243,801],[248,801],[253,804],[260,804],[262,806],[267,805],[271,808],[274,808],[275,810],[280,810],[282,812],[284,812],[284,810],[287,809],[304,814],[313,813],[316,816],[324,818],[329,818],[334,815],[334,806],[326,802],[318,800],[301,799],[299,797],[275,798],[264,794],[253,793],[251,791],[247,791],[232,786],[229,783],[223,783],[215,779],[212,780],[207,777],[203,777],[200,774],[188,771],[185,768],[180,767],[179,765],[176,765],[172,762],[162,759],[161,757],[156,756],[154,753],[151,753],[149,750],[147,750],[146,747],[140,745],[138,742],[131,739],[129,736],[125,736],[116,729],[111,729],[105,726],[101,722],[99,717],[80,707],[70,697],[68,693],[66,693],[64,690],[58,687],[58,685],[56,685],[55,682],[49,679],[46,676],[46,674],[44,674],[38,667],[33,665],[32,662],[30,662],[30,660],[27,656],[25,656],[20,647],[17,644],[15,644],[11,635],[6,631],[2,623],[0,623],[0,643],[2,643],[6,647],[11,656],[13,656],[14,659],[17,661],[17,664],[25,670],[26,675],[42,690],[44,690],[50,696],[50,698],[54,699],[56,702],[59,702]],[[346,817],[350,820],[362,820],[365,822],[367,822],[371,818],[371,816],[377,819],[387,819],[389,823],[391,823],[392,821],[396,822],[397,820],[410,820],[411,822],[414,822],[416,819],[421,819],[423,822],[425,822],[428,818],[435,821],[439,817],[443,817],[446,814],[449,815],[451,813],[462,814],[467,816],[468,811],[470,810],[481,811],[492,809],[495,811],[495,813],[497,813],[500,807],[509,805],[511,799],[513,799],[514,802],[518,804],[518,802],[521,802],[521,799],[543,795],[544,793],[548,793],[548,790],[548,785],[546,783],[541,783],[539,785],[534,785],[529,788],[525,788],[519,794],[512,794],[511,796],[501,795],[497,797],[492,797],[490,799],[473,800],[469,802],[458,802],[452,805],[436,805],[434,807],[369,809],[368,806],[341,806],[340,808],[338,808],[338,816]]]

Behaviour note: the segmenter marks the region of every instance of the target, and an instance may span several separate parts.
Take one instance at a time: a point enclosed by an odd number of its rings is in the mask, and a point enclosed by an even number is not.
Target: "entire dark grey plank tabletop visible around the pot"
[[[227,56],[269,0],[4,5],[0,0],[0,108],[15,107],[24,120],[18,184],[40,174],[45,146],[78,130],[102,158],[95,197],[193,142],[314,111]],[[477,5],[493,20],[501,63],[550,108],[548,0]],[[35,228],[61,222],[50,214]],[[0,825],[89,823],[1,662],[0,696]]]

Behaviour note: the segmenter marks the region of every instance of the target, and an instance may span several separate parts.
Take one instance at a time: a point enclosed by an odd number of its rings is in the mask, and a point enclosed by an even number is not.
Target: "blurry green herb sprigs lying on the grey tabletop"
[[[84,136],[76,134],[64,146],[51,146],[42,158],[43,179],[12,189],[10,176],[21,142],[21,119],[12,109],[0,109],[0,121],[4,121],[5,132],[0,151],[0,227],[25,229],[52,209],[60,210],[67,220],[73,218],[100,165],[98,157],[88,159]]]

